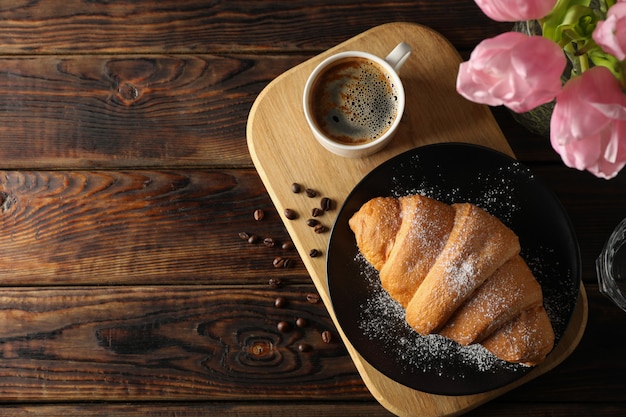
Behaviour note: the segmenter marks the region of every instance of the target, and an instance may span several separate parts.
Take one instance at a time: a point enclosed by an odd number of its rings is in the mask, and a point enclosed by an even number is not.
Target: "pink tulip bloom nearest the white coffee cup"
[[[522,113],[561,91],[566,58],[551,40],[506,32],[482,41],[459,68],[456,88],[476,103]]]

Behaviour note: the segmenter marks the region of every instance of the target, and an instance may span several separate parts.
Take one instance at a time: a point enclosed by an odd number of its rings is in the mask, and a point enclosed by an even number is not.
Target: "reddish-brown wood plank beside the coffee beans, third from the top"
[[[3,171],[0,193],[3,285],[310,283],[253,170]]]

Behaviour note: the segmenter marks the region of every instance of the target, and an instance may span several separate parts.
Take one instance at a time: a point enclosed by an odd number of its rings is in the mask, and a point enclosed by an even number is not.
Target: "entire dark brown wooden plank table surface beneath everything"
[[[290,240],[246,144],[256,97],[396,21],[463,57],[509,27],[472,0],[0,0],[0,415],[390,415],[297,252],[239,235]],[[624,415],[626,313],[594,262],[626,217],[626,173],[568,169],[493,113],[571,216],[589,322],[556,369],[467,415]]]

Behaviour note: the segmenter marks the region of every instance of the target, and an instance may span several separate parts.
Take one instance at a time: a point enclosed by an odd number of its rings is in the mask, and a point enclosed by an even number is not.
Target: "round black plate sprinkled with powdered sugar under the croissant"
[[[380,286],[360,255],[350,217],[377,196],[419,193],[447,203],[470,202],[497,216],[520,238],[522,256],[540,282],[556,341],[576,306],[580,254],[567,213],[554,194],[514,159],[468,144],[417,148],[383,163],[350,193],[328,247],[333,309],[350,343],[394,381],[440,395],[470,395],[507,385],[532,368],[495,358],[480,345],[461,347],[421,336]]]

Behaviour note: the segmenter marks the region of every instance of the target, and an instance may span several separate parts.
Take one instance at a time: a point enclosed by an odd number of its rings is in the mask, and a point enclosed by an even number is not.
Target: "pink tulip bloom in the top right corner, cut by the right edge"
[[[593,31],[593,40],[617,59],[626,59],[626,3],[613,5]]]

